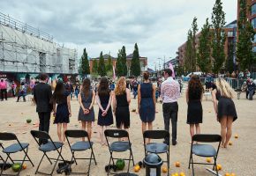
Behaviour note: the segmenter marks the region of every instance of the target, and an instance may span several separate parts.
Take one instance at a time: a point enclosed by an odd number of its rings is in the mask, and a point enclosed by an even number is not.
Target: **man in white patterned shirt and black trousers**
[[[180,97],[180,86],[171,76],[172,70],[163,70],[163,76],[166,79],[161,85],[162,113],[164,120],[164,129],[169,131],[169,119],[172,126],[172,145],[177,144],[177,98]],[[168,139],[164,140],[168,143]]]

